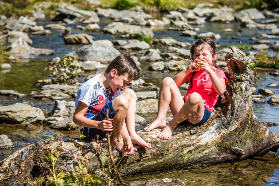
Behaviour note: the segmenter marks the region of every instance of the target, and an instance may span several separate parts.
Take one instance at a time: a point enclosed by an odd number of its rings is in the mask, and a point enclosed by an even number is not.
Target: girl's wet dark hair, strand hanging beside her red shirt
[[[195,48],[200,45],[203,45],[204,47],[208,47],[212,56],[217,54],[216,46],[215,46],[215,43],[212,41],[212,39],[201,38],[201,39],[197,40],[196,42],[194,42],[193,45],[191,46],[189,58],[192,62],[194,61]],[[216,55],[216,59],[214,61],[212,61],[211,65],[216,66],[217,61],[218,61],[218,56]],[[190,78],[190,85],[189,85],[188,89],[192,88],[192,86],[193,86],[192,79],[193,79],[194,75],[195,75],[195,72],[192,73],[192,77]]]

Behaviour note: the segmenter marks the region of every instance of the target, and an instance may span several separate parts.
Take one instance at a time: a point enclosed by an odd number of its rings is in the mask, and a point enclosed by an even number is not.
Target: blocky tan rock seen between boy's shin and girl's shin
[[[138,114],[155,113],[155,112],[157,112],[157,105],[158,105],[158,100],[155,100],[155,99],[137,101],[136,113],[138,113]]]

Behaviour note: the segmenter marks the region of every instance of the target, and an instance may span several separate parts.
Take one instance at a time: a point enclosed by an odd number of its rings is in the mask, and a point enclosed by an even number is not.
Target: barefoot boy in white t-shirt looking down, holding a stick
[[[108,64],[103,74],[98,74],[78,89],[73,122],[83,127],[86,139],[103,139],[106,131],[112,131],[110,144],[126,156],[137,151],[139,144],[151,148],[135,133],[136,94],[125,89],[132,80],[139,79],[139,69],[127,54],[117,56]],[[120,89],[125,89],[120,94]],[[109,120],[106,109],[109,108]],[[125,145],[128,147],[125,152]]]

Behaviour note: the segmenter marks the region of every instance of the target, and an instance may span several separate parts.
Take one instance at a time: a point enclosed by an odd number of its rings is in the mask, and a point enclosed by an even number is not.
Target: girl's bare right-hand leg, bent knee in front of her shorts
[[[170,120],[166,128],[158,135],[161,139],[170,139],[175,127],[184,120],[188,119],[191,123],[201,121],[204,114],[204,103],[199,93],[192,93],[188,100],[184,103],[175,117]]]

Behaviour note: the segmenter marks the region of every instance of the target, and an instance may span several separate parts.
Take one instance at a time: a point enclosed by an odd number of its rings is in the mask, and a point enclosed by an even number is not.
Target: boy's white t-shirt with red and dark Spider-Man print
[[[78,101],[82,101],[88,106],[86,113],[99,113],[104,107],[107,99],[114,99],[120,95],[120,90],[113,92],[111,88],[106,89],[100,82],[101,74],[95,75],[87,80],[78,89],[78,97],[76,99],[76,108]]]

